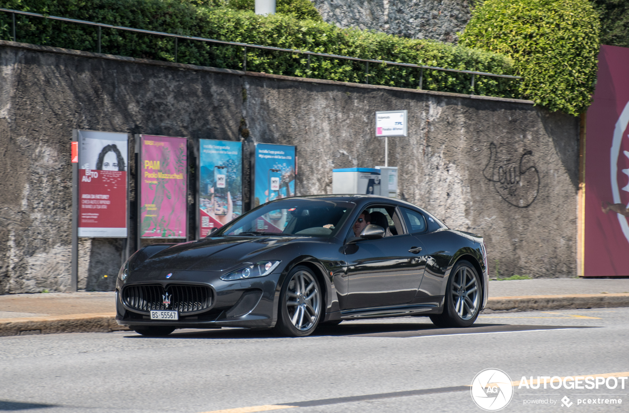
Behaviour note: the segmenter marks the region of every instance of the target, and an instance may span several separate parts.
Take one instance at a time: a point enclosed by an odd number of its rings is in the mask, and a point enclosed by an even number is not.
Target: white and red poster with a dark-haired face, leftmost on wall
[[[127,236],[126,133],[79,130],[79,237]]]

